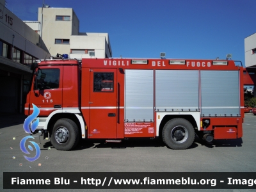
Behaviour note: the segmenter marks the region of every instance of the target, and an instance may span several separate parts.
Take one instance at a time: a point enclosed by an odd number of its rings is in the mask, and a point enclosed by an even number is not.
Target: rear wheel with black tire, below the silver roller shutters
[[[173,118],[163,128],[163,141],[172,149],[186,149],[195,140],[193,125],[184,118]]]

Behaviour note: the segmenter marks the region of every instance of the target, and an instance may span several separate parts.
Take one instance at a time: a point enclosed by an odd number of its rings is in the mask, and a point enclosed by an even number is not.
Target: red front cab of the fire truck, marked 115
[[[76,124],[77,134],[81,134],[81,124],[76,116],[80,114],[81,61],[39,60],[33,63],[31,69],[33,77],[25,104],[25,115],[33,113],[32,104],[35,104],[40,109],[37,130],[44,132],[44,138],[48,138],[49,132],[50,138],[54,138],[58,144],[65,143],[71,136],[68,129],[63,127],[57,127],[52,132],[59,119],[66,119],[68,124]]]

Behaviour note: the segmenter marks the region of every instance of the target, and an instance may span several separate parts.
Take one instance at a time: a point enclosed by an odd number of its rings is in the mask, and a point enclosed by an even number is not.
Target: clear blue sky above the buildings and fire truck
[[[43,0],[6,0],[22,20],[37,20]],[[109,33],[113,57],[225,58],[244,65],[244,38],[256,33],[255,0],[45,0],[74,8],[80,32]]]

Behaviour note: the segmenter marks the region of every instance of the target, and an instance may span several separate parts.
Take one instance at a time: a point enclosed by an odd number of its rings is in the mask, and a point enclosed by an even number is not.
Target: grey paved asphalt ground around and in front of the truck
[[[28,136],[22,128],[25,118],[26,116],[23,115],[0,115],[0,191],[18,191],[18,189],[3,189],[3,172],[256,172],[256,116],[252,113],[245,114],[243,138],[239,140],[218,140],[209,144],[196,138],[195,143],[187,150],[171,150],[161,140],[125,140],[122,143],[82,140],[75,150],[64,152],[51,148],[49,140],[41,138],[39,141],[36,138],[34,141],[41,148],[41,156],[34,162],[27,161],[19,147],[20,140]],[[38,166],[39,163],[41,166]],[[19,191],[70,191],[70,189],[19,189]],[[72,189],[72,191],[256,191],[256,189]]]

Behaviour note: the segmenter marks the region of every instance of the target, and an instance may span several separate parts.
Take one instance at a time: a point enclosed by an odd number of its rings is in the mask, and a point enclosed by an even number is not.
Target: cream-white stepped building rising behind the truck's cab
[[[79,19],[72,8],[38,8],[38,21],[24,21],[42,37],[51,56],[111,58],[108,33],[80,33]]]

